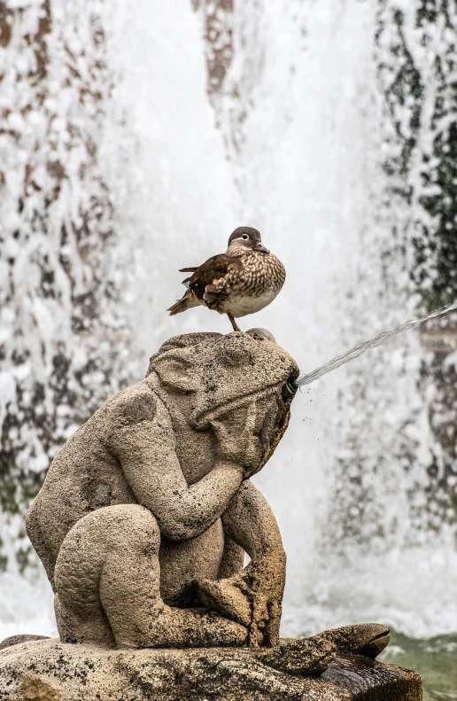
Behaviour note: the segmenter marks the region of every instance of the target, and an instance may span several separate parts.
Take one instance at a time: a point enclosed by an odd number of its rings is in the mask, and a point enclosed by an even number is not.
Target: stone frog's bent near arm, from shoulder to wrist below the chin
[[[158,519],[161,533],[171,541],[186,541],[212,526],[240,487],[242,469],[216,463],[189,487],[174,451],[167,410],[147,392],[128,398],[114,412],[113,423],[109,448],[137,501]]]

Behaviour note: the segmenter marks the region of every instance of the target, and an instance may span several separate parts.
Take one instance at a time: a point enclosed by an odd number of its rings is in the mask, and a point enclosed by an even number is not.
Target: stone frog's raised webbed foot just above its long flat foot
[[[198,601],[211,611],[249,627],[252,622],[252,607],[247,596],[236,585],[235,580],[195,581]]]

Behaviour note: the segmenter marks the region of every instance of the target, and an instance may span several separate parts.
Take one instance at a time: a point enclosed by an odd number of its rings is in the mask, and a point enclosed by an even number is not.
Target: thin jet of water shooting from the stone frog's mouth
[[[321,367],[316,368],[312,372],[308,372],[306,375],[300,375],[300,377],[295,380],[295,386],[301,387],[304,385],[310,385],[312,382],[314,382],[314,380],[321,378],[322,375],[327,375],[327,373],[331,370],[336,370],[341,365],[345,365],[346,362],[355,360],[355,358],[358,358],[360,355],[366,353],[371,348],[382,346],[383,343],[392,339],[394,336],[398,336],[399,333],[403,333],[403,331],[413,329],[414,326],[418,326],[419,324],[427,322],[430,319],[436,319],[438,318],[438,316],[448,314],[454,309],[457,309],[457,301],[453,301],[451,302],[451,304],[448,304],[445,307],[435,309],[434,311],[430,312],[430,314],[427,314],[425,316],[421,316],[417,319],[410,319],[409,321],[402,323],[400,326],[397,326],[397,328],[392,329],[391,331],[383,331],[382,333],[378,333],[378,335],[375,336],[373,339],[365,341],[364,343],[360,343],[359,346],[352,348],[350,351],[347,351],[342,355],[337,355],[336,358],[333,358],[333,360],[326,362],[325,365],[321,365]],[[291,392],[290,396],[293,396]]]

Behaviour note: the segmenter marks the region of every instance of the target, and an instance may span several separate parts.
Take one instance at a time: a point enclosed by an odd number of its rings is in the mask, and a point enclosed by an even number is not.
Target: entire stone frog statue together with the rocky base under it
[[[279,639],[286,558],[250,477],[297,377],[268,331],[177,336],[66,441],[26,518],[60,640],[0,643],[0,699],[422,698],[376,661],[384,626]]]

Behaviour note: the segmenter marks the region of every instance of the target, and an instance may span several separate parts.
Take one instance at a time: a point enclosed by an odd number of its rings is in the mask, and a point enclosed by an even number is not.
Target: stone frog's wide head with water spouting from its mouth
[[[254,405],[254,432],[265,446],[259,469],[289,424],[298,365],[267,331],[176,336],[151,357],[151,372],[165,391],[190,396],[187,419],[198,431],[216,420],[237,423],[242,430]]]

